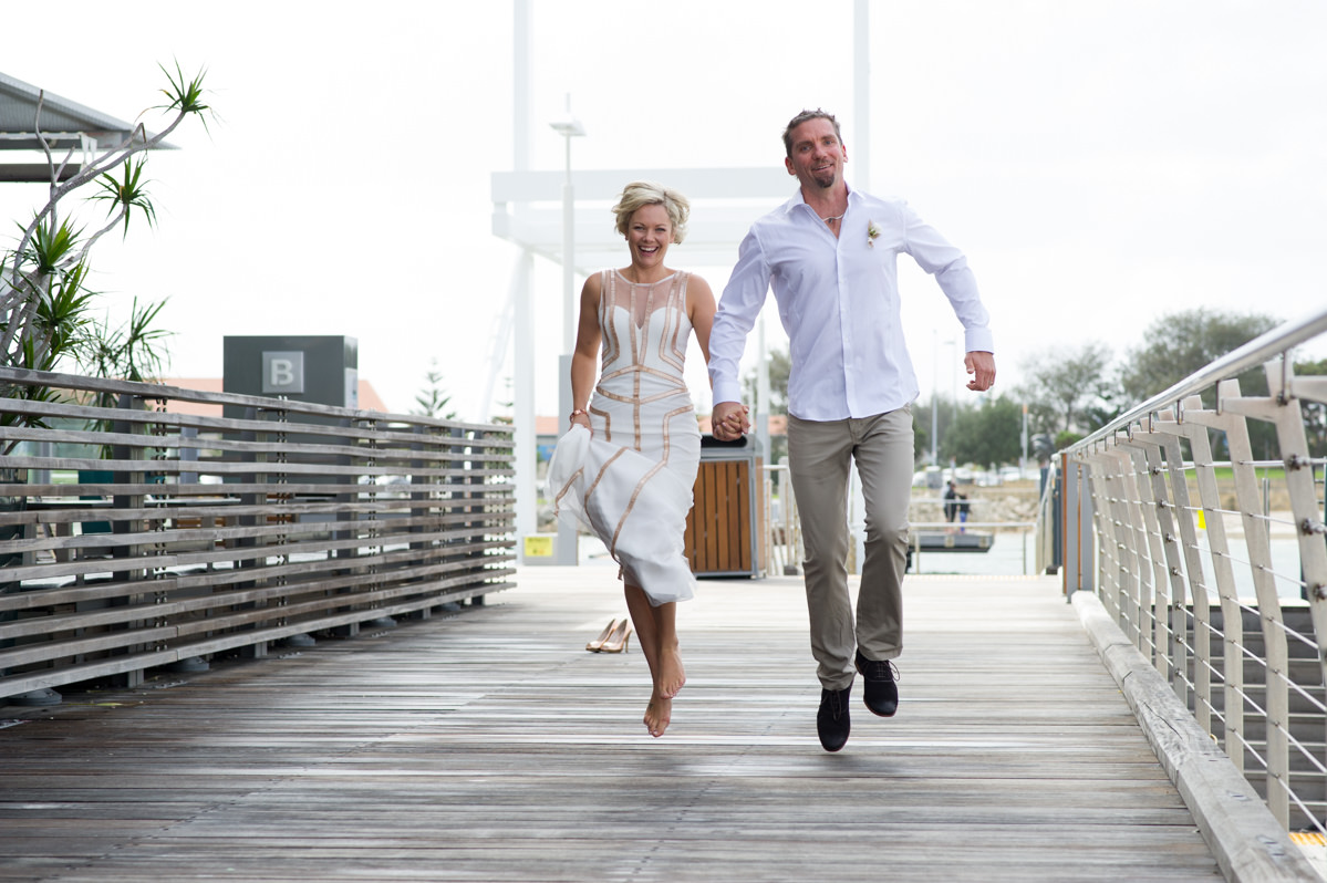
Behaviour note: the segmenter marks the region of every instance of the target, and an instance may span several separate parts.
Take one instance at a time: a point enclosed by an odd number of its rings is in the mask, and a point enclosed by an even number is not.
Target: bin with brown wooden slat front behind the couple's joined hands
[[[764,575],[762,469],[755,439],[702,436],[683,540],[697,577]]]

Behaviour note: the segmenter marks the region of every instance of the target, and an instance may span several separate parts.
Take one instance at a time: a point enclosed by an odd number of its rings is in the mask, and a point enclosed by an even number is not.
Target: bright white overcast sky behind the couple
[[[544,123],[571,93],[577,168],[779,166],[783,123],[821,106],[853,180],[852,0],[532,5],[535,168],[563,167]],[[170,297],[174,377],[220,377],[227,334],[348,334],[390,410],[437,358],[480,419],[515,259],[490,232],[490,175],[512,164],[511,20],[504,0],[7,4],[0,70],[133,119],[158,103],[158,62],[207,68],[220,119],[149,163],[158,228],[93,253],[114,318],[134,294]],[[1327,4],[878,0],[871,25],[871,190],[967,253],[997,390],[1050,346],[1123,355],[1161,313],[1327,302]],[[0,187],[0,219],[41,198]],[[669,257],[715,292],[727,280],[685,245]],[[536,403],[555,414],[561,282],[537,264]],[[957,322],[901,270],[922,395],[933,378],[947,392],[955,359],[933,342]]]

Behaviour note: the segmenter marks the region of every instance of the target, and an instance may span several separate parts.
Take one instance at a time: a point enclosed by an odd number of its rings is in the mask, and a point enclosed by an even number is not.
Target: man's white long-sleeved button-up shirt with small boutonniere
[[[898,302],[900,252],[936,277],[963,325],[967,351],[994,353],[967,259],[906,203],[849,190],[836,239],[799,188],[742,240],[710,333],[714,402],[742,400],[742,350],[771,286],[788,333],[794,416],[865,418],[916,399]]]

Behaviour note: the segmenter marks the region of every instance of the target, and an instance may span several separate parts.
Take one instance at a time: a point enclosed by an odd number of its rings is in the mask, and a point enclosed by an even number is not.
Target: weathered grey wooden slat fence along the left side
[[[0,390],[0,697],[512,585],[510,426],[13,369]]]

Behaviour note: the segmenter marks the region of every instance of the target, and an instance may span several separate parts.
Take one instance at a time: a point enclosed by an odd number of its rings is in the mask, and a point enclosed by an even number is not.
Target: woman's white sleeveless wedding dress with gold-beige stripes
[[[701,461],[683,367],[691,322],[687,273],[653,284],[602,270],[593,434],[572,426],[548,465],[559,518],[593,530],[652,605],[686,601],[695,577],[682,536]]]

